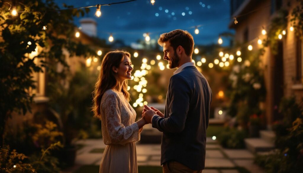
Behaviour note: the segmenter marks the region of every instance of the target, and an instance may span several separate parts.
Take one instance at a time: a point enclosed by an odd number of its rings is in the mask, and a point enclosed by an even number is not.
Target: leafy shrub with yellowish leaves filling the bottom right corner
[[[284,119],[274,125],[277,150],[256,158],[268,173],[303,172],[302,108],[294,97],[282,99],[279,110]]]

